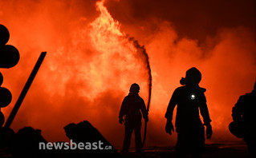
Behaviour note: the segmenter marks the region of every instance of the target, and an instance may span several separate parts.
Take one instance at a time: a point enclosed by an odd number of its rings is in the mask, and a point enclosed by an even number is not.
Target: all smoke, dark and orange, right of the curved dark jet
[[[193,66],[201,70],[213,120],[213,138],[206,143],[238,140],[228,124],[238,97],[253,89],[256,78],[255,2],[123,0],[108,1],[106,6],[151,59],[154,80],[147,142],[175,144],[176,136],[165,133],[164,115],[181,77]]]

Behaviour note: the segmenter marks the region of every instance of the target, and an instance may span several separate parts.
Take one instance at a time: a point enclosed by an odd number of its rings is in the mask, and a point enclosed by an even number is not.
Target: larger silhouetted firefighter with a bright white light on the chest
[[[165,118],[167,118],[165,130],[172,135],[172,131],[174,131],[173,109],[177,105],[175,126],[178,157],[186,157],[191,153],[193,157],[198,158],[205,150],[205,128],[201,123],[199,109],[206,125],[207,138],[210,139],[213,133],[206,105],[206,89],[199,87],[200,81],[200,71],[194,67],[189,69],[185,78],[182,77],[180,81],[184,86],[175,89],[165,113]]]

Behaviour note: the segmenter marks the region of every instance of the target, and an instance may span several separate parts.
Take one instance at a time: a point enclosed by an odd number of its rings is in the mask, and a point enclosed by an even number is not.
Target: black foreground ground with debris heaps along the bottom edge
[[[76,157],[142,157],[142,158],[167,158],[176,157],[176,150],[174,147],[156,146],[145,147],[143,153],[136,153],[134,149],[128,154],[120,153],[120,148],[115,148],[100,134],[100,132],[94,128],[87,120],[80,122],[79,124],[68,124],[64,127],[67,137],[75,144],[87,142],[95,144],[99,142],[104,144],[105,147],[111,148],[39,148],[39,143],[53,144],[44,140],[41,136],[41,131],[31,127],[25,127],[20,129],[17,133],[10,128],[3,128],[2,132],[5,133],[5,137],[2,137],[0,146],[0,158],[2,157],[35,157],[35,158],[76,158]],[[1,132],[1,130],[0,130]],[[1,135],[0,135],[1,136]],[[55,142],[53,142],[55,143]],[[60,142],[61,143],[61,142]],[[63,143],[63,142],[62,142]],[[70,142],[67,147],[74,147],[75,145]],[[90,146],[90,145],[89,145]],[[221,142],[215,144],[206,144],[205,158],[249,158],[249,152],[247,146],[243,141],[235,142]]]

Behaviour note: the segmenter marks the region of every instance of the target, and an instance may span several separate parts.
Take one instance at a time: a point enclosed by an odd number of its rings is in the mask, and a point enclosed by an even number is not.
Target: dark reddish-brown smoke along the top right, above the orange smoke
[[[106,6],[125,32],[133,33],[141,42],[148,34],[157,32],[158,25],[152,21],[172,22],[177,39],[198,40],[201,45],[208,36],[215,36],[220,28],[245,26],[255,35],[255,1],[221,0],[190,1],[107,1]],[[132,27],[137,27],[132,29]],[[140,27],[140,29],[139,29]],[[144,32],[144,36],[138,36]],[[147,34],[146,34],[147,33]]]

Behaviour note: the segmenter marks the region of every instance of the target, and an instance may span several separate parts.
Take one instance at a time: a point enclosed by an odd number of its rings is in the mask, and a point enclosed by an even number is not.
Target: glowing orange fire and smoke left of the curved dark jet
[[[27,21],[25,26],[18,25],[19,19],[16,27],[8,25],[8,20],[3,22],[14,40],[10,42],[21,53],[21,60],[14,69],[2,71],[4,86],[14,96],[12,104],[2,110],[8,117],[37,55],[46,50],[47,57],[12,128],[17,131],[30,125],[42,129],[47,140],[59,141],[67,140],[65,125],[89,120],[108,140],[120,145],[124,133],[120,132],[123,127],[118,124],[118,113],[132,83],[140,85],[140,96],[148,98],[150,104],[152,77],[148,55],[143,46],[120,31],[119,22],[108,13],[104,2],[93,6],[99,13],[95,13],[98,16],[91,22],[87,19],[93,14],[87,18],[87,14],[75,11],[78,3],[57,1],[52,4],[56,10],[47,8],[50,1],[15,3],[18,8],[28,4],[36,9],[33,14],[28,10],[22,12]],[[91,7],[90,3],[83,6]],[[3,13],[11,11],[16,12]],[[62,15],[66,12],[69,13]],[[74,18],[69,18],[70,14]],[[61,19],[56,19],[58,16]],[[19,41],[20,38],[24,41]]]

